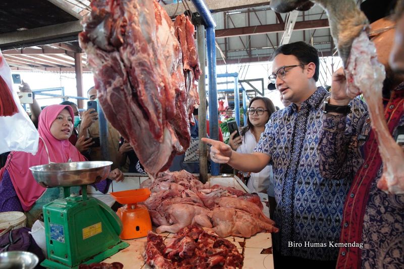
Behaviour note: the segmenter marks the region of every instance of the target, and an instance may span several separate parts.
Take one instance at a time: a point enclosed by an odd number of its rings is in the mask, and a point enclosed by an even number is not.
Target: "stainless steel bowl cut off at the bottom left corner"
[[[1,269],[32,269],[38,264],[38,257],[26,251],[7,251],[0,253]]]

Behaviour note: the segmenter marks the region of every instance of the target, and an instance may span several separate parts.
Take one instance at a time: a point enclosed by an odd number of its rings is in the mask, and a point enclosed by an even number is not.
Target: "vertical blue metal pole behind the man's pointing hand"
[[[209,66],[209,131],[212,139],[219,140],[218,92],[216,85],[215,28],[206,29],[207,59]],[[219,164],[211,162],[212,176],[219,175]]]

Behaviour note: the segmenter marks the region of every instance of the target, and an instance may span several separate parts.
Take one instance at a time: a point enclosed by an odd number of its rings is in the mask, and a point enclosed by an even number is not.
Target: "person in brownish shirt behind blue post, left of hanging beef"
[[[97,91],[94,87],[91,87],[88,91],[87,91],[87,97],[88,99],[92,100],[92,101],[97,101]],[[88,110],[87,113],[90,114],[92,111]],[[91,113],[94,114],[94,113]],[[84,115],[83,115],[84,116]],[[90,126],[83,126],[83,135],[85,135],[86,137],[90,137],[90,138],[95,138],[95,137],[99,137],[99,124],[98,124],[98,117],[94,120],[92,118],[92,124],[90,124]],[[109,151],[109,160],[111,162],[113,162],[112,168],[119,168],[119,160],[118,160],[118,147],[119,147],[119,141],[121,138],[121,135],[119,134],[119,132],[111,125],[110,122],[107,121],[107,126],[108,126],[108,151]],[[79,133],[79,135],[82,135],[81,132]],[[103,157],[103,153],[101,150],[101,147],[91,147],[90,149],[90,159],[91,160],[106,160]]]

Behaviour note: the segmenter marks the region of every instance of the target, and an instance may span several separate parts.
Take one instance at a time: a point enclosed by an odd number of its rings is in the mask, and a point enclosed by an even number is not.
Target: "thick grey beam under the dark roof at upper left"
[[[32,46],[49,42],[49,40],[64,39],[77,40],[78,33],[83,31],[80,21],[66,22],[61,24],[43,26],[24,31],[0,34],[0,48]],[[67,41],[67,40],[65,40]]]

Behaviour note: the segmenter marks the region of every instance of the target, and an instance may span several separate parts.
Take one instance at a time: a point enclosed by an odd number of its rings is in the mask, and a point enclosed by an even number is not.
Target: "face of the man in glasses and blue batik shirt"
[[[293,65],[300,65],[295,56],[279,54],[272,63],[272,73],[275,73],[280,67]],[[305,68],[302,66],[286,68],[285,77],[276,78],[275,86],[283,99],[293,103],[301,103],[307,99],[310,77]]]

